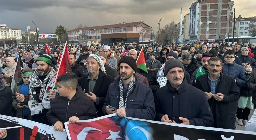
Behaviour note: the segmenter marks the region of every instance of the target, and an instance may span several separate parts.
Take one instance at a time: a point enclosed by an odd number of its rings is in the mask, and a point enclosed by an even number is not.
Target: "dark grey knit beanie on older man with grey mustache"
[[[164,68],[165,68],[164,70],[165,76],[172,68],[182,68],[183,72],[185,72],[184,66],[178,59],[170,59],[169,61],[165,62]]]

